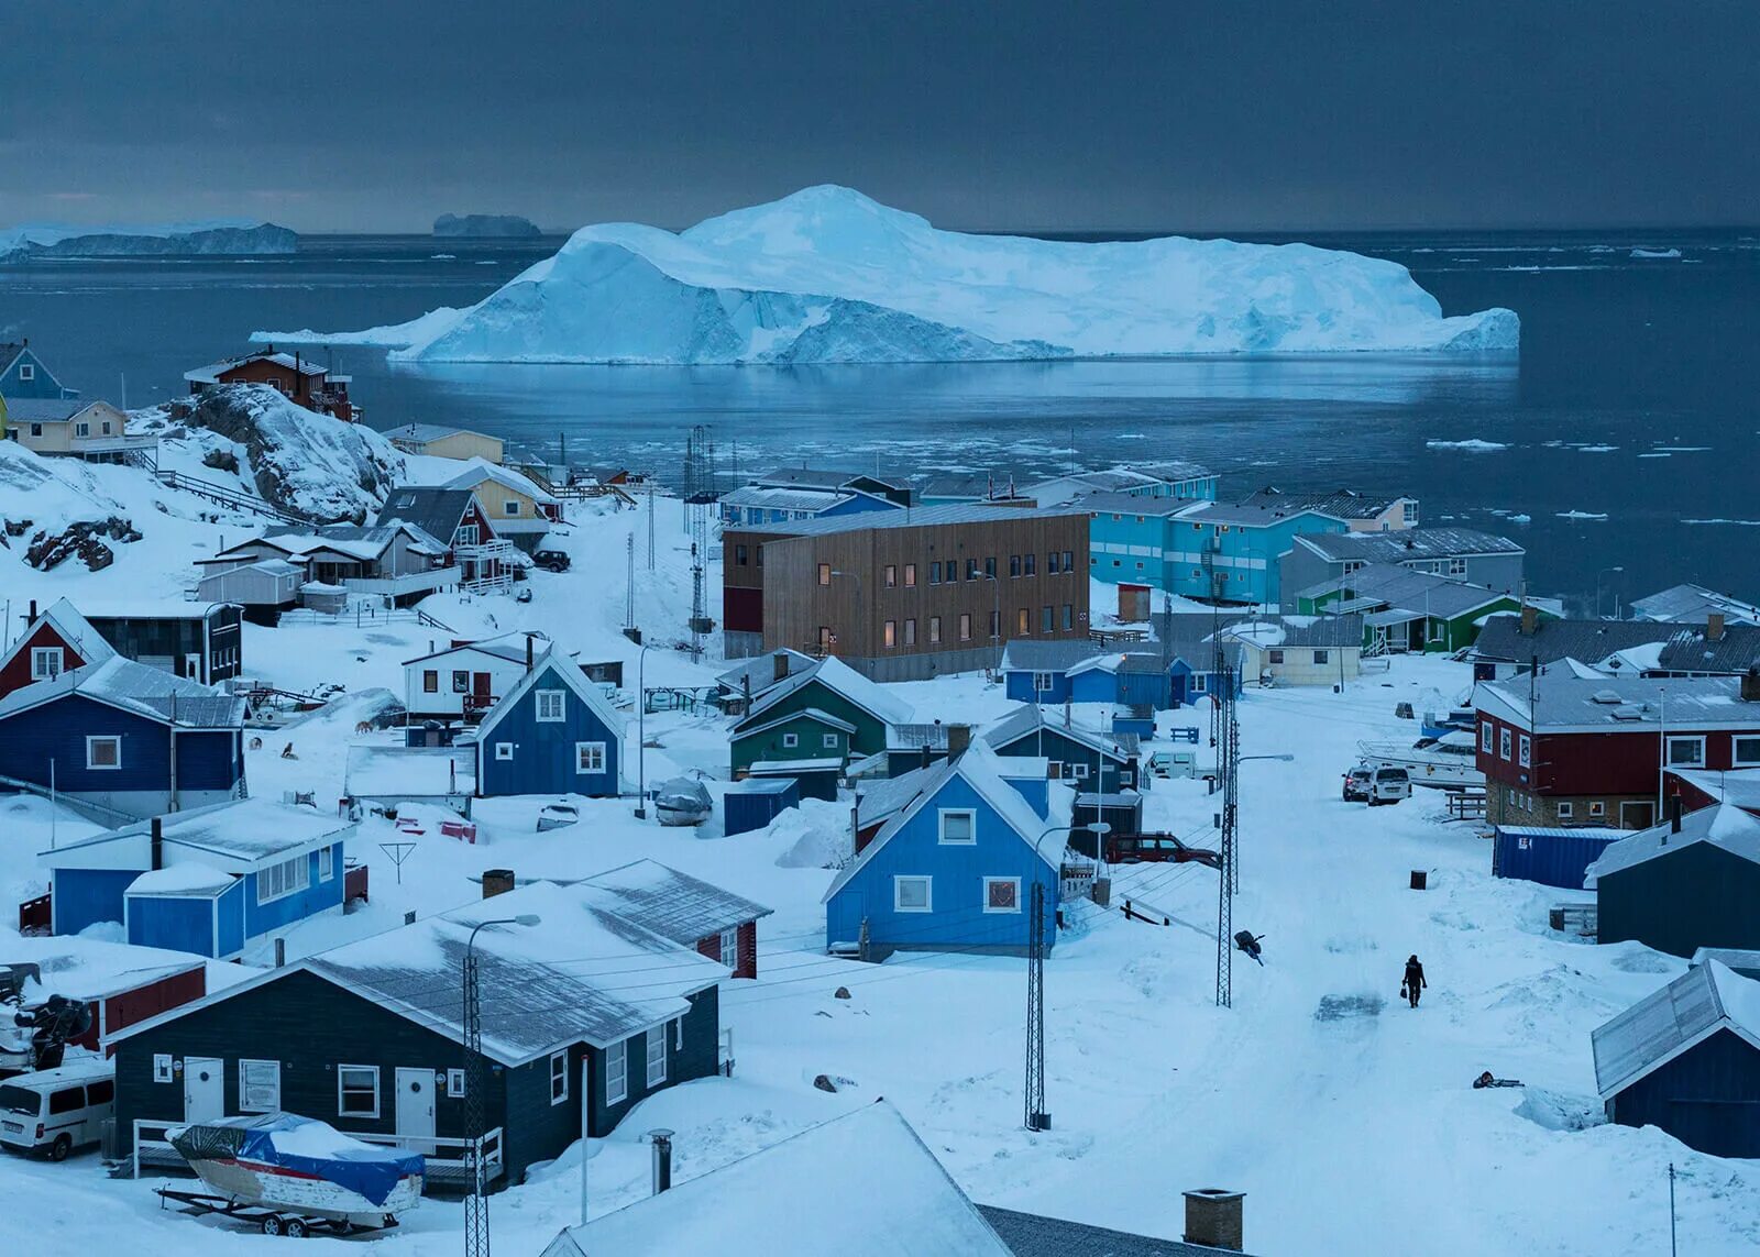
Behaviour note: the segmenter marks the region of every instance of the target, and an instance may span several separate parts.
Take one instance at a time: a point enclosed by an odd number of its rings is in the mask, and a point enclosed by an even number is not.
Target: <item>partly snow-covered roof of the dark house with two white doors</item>
[[[125,1039],[292,974],[317,977],[463,1042],[458,975],[477,931],[484,1056],[514,1067],[570,1044],[628,1039],[690,1011],[688,995],[729,970],[604,907],[604,891],[533,882],[493,900],[385,930],[128,1026]]]

